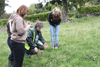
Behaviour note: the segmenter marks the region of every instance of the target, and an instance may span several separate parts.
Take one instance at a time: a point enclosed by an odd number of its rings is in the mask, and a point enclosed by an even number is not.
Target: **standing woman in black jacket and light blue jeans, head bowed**
[[[51,46],[54,48],[59,47],[59,29],[61,22],[61,10],[59,7],[55,7],[48,16],[50,33],[51,33]],[[55,42],[54,42],[55,36]]]

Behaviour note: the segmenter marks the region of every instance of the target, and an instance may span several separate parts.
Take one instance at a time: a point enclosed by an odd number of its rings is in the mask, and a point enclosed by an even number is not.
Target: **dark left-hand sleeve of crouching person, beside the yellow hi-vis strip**
[[[33,31],[29,30],[26,41],[30,47],[36,47],[37,45],[33,42]]]

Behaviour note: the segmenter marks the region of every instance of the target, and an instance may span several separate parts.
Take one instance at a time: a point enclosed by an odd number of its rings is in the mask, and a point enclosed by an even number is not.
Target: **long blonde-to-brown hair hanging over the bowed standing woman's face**
[[[62,14],[61,14],[62,12],[61,12],[60,8],[55,7],[52,11],[53,11],[53,15],[52,15],[53,20],[59,20],[62,16]]]

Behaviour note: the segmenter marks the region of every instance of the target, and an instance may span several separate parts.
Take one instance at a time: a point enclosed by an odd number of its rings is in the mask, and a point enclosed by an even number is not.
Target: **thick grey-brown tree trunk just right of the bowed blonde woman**
[[[68,3],[67,0],[62,0],[62,22],[67,22],[68,19]]]

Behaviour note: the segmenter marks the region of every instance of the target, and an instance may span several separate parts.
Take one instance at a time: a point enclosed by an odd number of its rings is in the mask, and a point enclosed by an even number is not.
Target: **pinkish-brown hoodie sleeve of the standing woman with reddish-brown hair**
[[[26,33],[27,29],[24,27],[24,20],[22,18],[16,19],[16,30],[19,36],[22,36]]]

